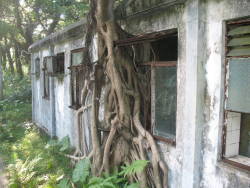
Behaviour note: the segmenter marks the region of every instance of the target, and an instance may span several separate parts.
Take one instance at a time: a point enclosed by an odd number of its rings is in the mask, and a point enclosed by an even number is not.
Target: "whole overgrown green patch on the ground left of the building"
[[[0,101],[0,156],[7,166],[9,187],[58,187],[70,175],[69,159],[51,147],[51,139],[31,123],[29,77],[5,74],[4,100]],[[56,141],[54,141],[56,142]]]

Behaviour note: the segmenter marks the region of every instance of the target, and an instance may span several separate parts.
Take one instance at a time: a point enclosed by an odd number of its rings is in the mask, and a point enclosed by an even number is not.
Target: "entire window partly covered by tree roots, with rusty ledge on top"
[[[133,51],[137,49],[134,61],[142,75],[149,74],[145,83],[151,82],[151,85],[145,95],[149,93],[150,101],[142,102],[144,126],[155,138],[174,144],[178,58],[176,29],[120,40],[115,44],[131,46]]]

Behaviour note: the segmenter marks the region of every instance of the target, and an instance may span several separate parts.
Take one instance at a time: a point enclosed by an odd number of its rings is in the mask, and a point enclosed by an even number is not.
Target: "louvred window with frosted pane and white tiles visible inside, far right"
[[[227,23],[223,157],[250,170],[250,20]]]

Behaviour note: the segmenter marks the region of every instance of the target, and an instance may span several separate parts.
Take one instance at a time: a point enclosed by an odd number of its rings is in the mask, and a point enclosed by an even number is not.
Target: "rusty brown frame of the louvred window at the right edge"
[[[232,111],[232,110],[228,110],[226,109],[226,105],[227,104],[227,100],[228,100],[228,96],[227,96],[227,92],[228,92],[228,80],[229,80],[229,72],[230,69],[229,67],[229,61],[231,59],[238,59],[238,58],[246,58],[250,60],[250,55],[242,55],[242,56],[228,56],[228,52],[229,52],[229,47],[228,42],[229,42],[229,37],[228,37],[228,32],[229,32],[229,26],[232,25],[238,25],[238,24],[249,24],[250,25],[250,18],[242,18],[242,19],[237,19],[237,20],[231,20],[231,21],[226,21],[225,23],[225,60],[224,60],[224,90],[223,90],[223,95],[224,95],[224,105],[223,105],[223,127],[222,127],[222,151],[221,151],[221,160],[225,163],[228,163],[234,167],[237,167],[239,169],[244,169],[247,171],[250,171],[250,166],[244,164],[244,163],[240,163],[238,161],[232,160],[230,159],[230,157],[226,156],[226,139],[227,139],[227,128],[228,128],[228,113],[229,112],[236,112],[236,111]],[[243,112],[236,112],[236,113],[243,113]],[[241,131],[241,129],[240,129]],[[239,154],[238,154],[239,155]],[[240,156],[240,155],[239,155]],[[250,161],[250,157],[247,157]]]

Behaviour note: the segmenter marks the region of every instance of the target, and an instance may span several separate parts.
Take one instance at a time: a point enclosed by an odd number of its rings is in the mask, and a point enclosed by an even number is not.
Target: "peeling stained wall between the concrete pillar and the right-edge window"
[[[223,108],[225,21],[250,16],[249,0],[204,1],[205,40],[203,67],[206,71],[206,100],[203,102],[202,187],[250,187],[249,172],[223,164],[221,159]]]

